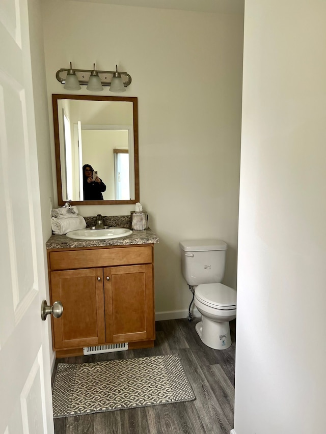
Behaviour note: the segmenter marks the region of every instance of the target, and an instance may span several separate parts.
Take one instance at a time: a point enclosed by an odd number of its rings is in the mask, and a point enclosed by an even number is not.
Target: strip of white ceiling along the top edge
[[[73,0],[75,2],[106,3],[145,8],[178,9],[184,11],[243,14],[244,0]]]

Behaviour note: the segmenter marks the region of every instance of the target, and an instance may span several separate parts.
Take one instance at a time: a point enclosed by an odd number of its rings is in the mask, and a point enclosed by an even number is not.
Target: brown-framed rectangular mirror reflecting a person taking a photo
[[[58,204],[139,201],[134,97],[52,95]]]

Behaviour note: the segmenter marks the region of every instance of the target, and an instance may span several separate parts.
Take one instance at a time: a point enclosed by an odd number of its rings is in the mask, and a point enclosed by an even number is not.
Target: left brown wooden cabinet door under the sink
[[[50,278],[51,303],[59,300],[64,309],[52,317],[55,350],[104,343],[103,269],[52,271]]]

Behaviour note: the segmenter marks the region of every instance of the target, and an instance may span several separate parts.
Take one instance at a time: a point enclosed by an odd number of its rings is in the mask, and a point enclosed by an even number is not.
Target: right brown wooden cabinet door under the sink
[[[155,338],[152,265],[104,268],[106,342]]]

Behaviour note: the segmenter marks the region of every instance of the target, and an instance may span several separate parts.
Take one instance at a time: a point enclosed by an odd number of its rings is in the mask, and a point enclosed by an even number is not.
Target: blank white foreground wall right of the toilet
[[[246,0],[236,434],[326,431],[325,20]]]

